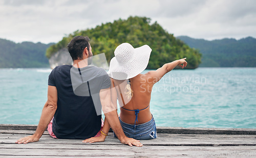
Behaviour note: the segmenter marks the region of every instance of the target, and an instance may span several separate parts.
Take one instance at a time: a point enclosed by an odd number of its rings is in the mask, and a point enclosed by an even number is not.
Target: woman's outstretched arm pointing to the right
[[[158,82],[165,74],[172,71],[177,65],[180,66],[182,69],[186,67],[187,62],[186,58],[175,60],[173,62],[165,63],[162,67],[157,69],[156,71],[150,71],[145,75],[148,75],[147,80],[152,80],[153,83]]]

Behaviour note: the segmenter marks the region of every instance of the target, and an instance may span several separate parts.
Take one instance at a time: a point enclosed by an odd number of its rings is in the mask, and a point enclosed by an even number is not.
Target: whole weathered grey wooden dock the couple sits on
[[[130,147],[113,138],[105,142],[53,139],[46,131],[39,142],[15,144],[36,125],[0,124],[0,157],[256,157],[256,129],[158,127],[158,138]]]

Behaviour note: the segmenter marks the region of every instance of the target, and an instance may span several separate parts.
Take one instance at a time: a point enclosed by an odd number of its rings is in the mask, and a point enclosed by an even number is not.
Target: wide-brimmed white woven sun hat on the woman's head
[[[147,46],[133,48],[130,43],[120,44],[110,61],[109,76],[116,80],[126,80],[139,75],[146,69],[152,49]]]

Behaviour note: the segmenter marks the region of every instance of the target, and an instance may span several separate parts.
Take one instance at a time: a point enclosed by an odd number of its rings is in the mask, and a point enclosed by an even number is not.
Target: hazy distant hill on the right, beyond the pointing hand
[[[256,39],[253,37],[211,41],[187,36],[177,38],[189,47],[200,50],[202,53],[200,67],[256,67]]]

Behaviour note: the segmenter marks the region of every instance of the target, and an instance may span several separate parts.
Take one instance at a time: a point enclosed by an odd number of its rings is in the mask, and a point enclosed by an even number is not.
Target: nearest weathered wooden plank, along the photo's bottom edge
[[[235,154],[236,153],[236,154]],[[254,151],[249,150],[218,150],[218,151],[201,151],[198,150],[143,150],[141,148],[127,148],[120,152],[113,150],[95,149],[95,150],[78,150],[78,149],[0,149],[0,155],[55,155],[55,156],[243,156],[242,154],[251,154],[256,156]]]

